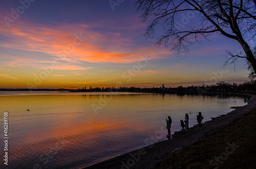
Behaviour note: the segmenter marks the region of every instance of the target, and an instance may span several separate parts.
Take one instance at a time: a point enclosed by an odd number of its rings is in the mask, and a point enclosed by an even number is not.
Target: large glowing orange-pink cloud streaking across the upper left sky
[[[7,28],[1,22],[0,35],[7,37],[9,42],[0,41],[0,46],[42,52],[54,56],[55,60],[74,64],[80,61],[132,63],[141,60],[140,54],[147,54],[151,59],[162,59],[171,54],[162,48],[138,46],[134,40],[124,38],[120,33],[103,34],[93,31],[92,28],[86,24],[44,25],[21,20],[16,20],[15,24]],[[31,62],[31,64],[35,63]],[[71,70],[76,70],[73,68],[70,67]]]

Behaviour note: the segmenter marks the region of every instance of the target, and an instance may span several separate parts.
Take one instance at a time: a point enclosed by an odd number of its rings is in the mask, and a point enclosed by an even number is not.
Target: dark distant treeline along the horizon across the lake
[[[92,88],[83,87],[82,89],[5,89],[0,88],[0,91],[56,91],[56,92],[133,92],[133,93],[170,93],[170,94],[207,94],[207,93],[247,93],[256,94],[256,80],[246,81],[243,84],[237,85],[237,83],[229,84],[225,81],[216,83],[216,85],[210,86],[189,86],[177,88],[164,87],[162,85],[159,88],[136,88],[136,87],[109,87],[109,88]]]

